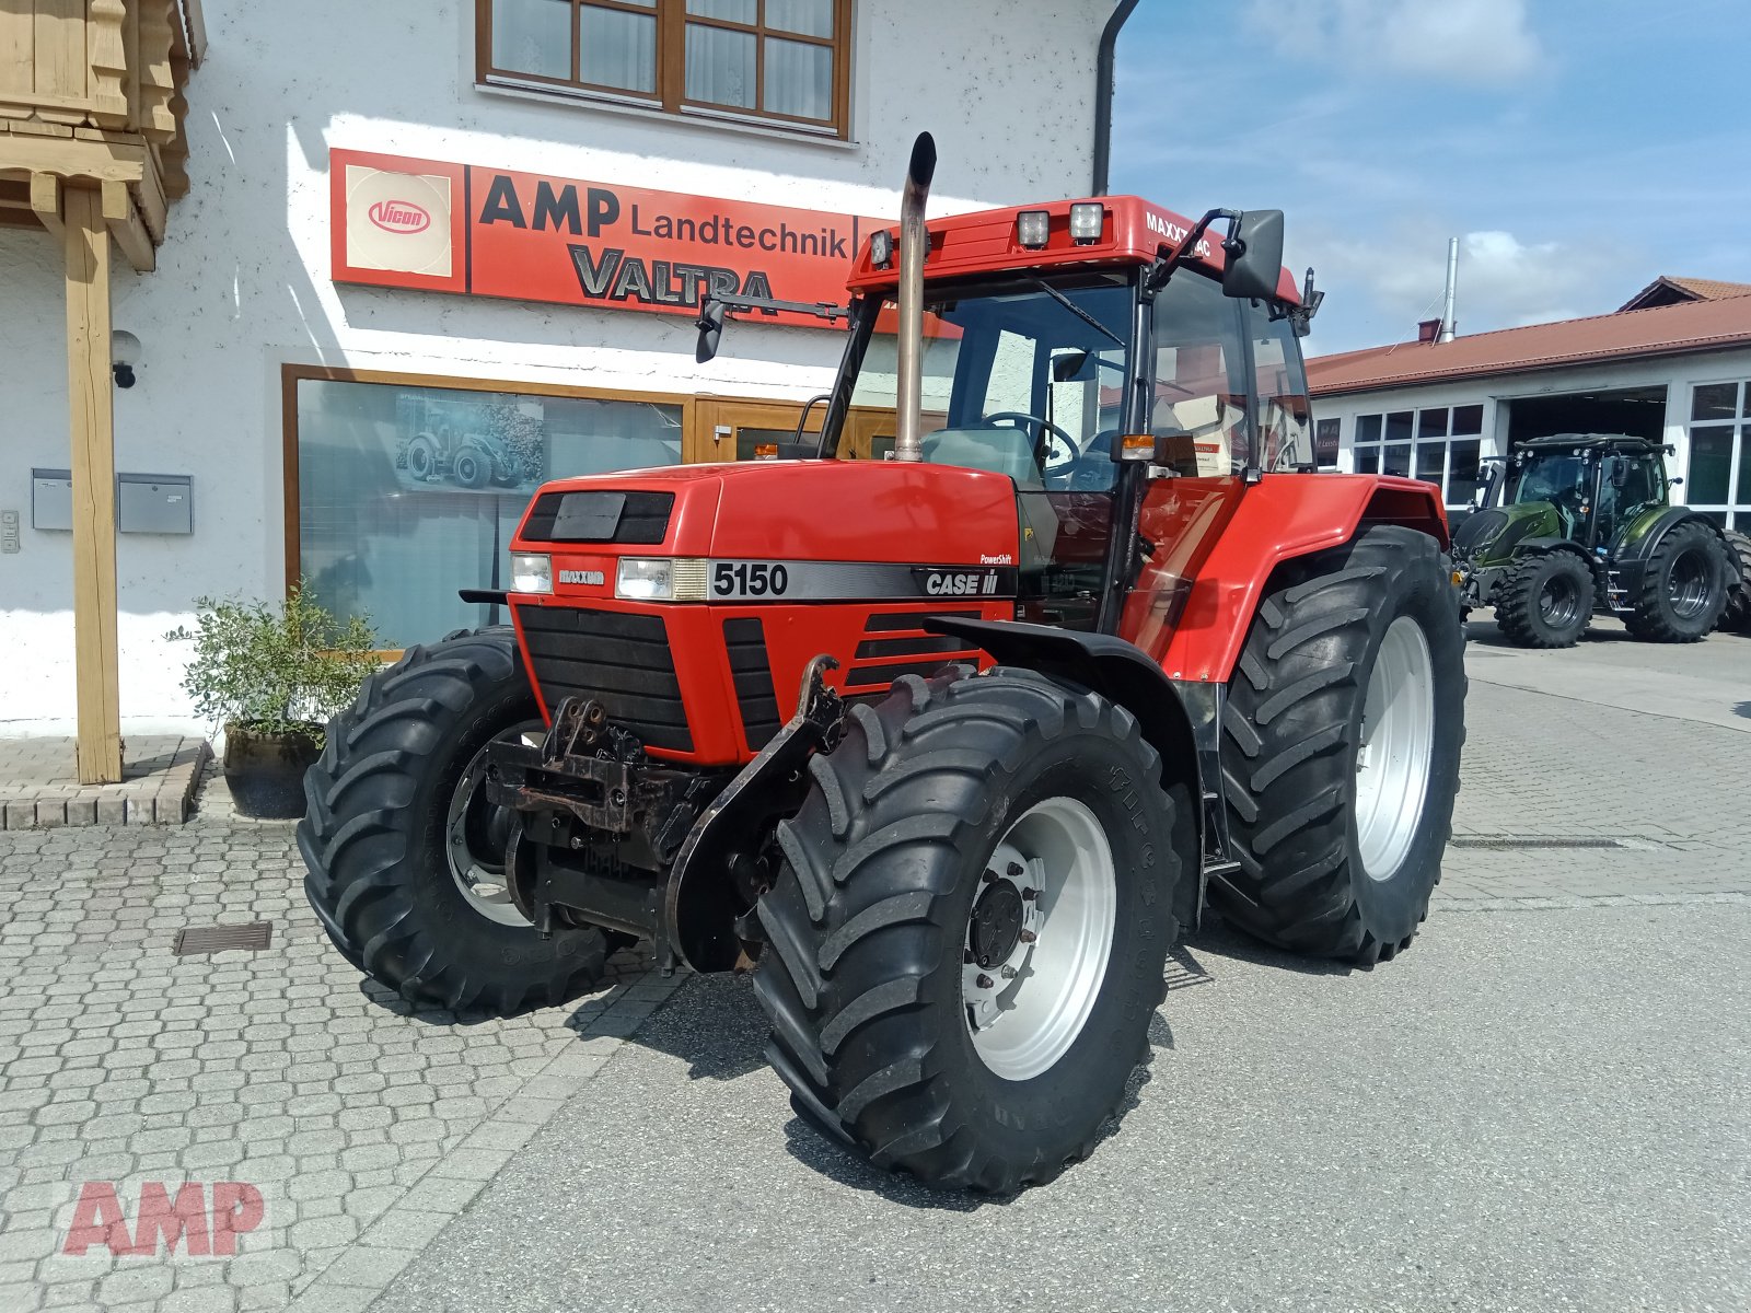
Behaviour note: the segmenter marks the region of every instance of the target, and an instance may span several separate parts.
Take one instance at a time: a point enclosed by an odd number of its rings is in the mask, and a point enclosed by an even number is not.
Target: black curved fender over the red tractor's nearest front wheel
[[[1220,688],[1180,688],[1136,644],[1112,634],[958,616],[930,616],[923,627],[968,639],[1000,665],[1021,665],[1091,688],[1136,716],[1143,739],[1161,755],[1163,779],[1185,784],[1201,800],[1189,818],[1201,867],[1227,860],[1227,814],[1222,811],[1217,758]],[[1173,910],[1182,926],[1196,926],[1203,907],[1203,875],[1187,875],[1198,879],[1180,881]]]

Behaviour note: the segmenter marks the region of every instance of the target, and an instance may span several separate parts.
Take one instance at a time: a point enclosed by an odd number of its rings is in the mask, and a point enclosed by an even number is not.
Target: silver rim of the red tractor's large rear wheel
[[[1404,865],[1434,756],[1434,662],[1422,625],[1399,616],[1387,627],[1368,676],[1362,735],[1355,749],[1355,837],[1362,870],[1387,881]]]

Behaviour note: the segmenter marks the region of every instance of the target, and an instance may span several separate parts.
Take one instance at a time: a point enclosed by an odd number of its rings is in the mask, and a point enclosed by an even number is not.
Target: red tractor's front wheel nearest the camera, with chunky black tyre
[[[786,861],[758,903],[769,942],[755,993],[791,1105],[877,1166],[935,1187],[1007,1194],[1052,1180],[1089,1154],[1149,1056],[1175,882],[1196,860],[1189,790],[1163,791],[1161,762],[1128,711],[1005,667],[904,676],[881,706],[851,709],[844,741],[809,772],[807,800],[779,823]],[[1054,886],[1044,861],[1016,875],[1007,846],[1065,798],[1087,818],[1080,851],[1105,854],[1105,903],[1063,896],[1072,882]],[[1035,872],[1037,900],[1003,891],[1003,879]],[[989,947],[977,938],[989,923],[974,917],[998,896],[1044,919],[1038,942],[1016,940],[1007,959],[993,951],[1016,972],[991,970],[1014,980],[1014,1010],[993,1010],[975,1038],[974,1015],[996,998],[991,984],[968,989]],[[1066,909],[1079,905],[1072,926]],[[1077,926],[1108,937],[1107,951],[1058,972],[1063,959],[1044,954],[1089,933]],[[1082,986],[1059,994],[1054,979]],[[1038,984],[1045,993],[1028,994]],[[1035,1029],[1023,1007],[1042,1000],[1073,1024]],[[1026,1045],[1028,1061],[996,1052],[993,1036]]]

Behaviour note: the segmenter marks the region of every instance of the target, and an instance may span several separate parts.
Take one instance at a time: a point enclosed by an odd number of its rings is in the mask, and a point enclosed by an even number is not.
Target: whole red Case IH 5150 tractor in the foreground
[[[1466,676],[1434,490],[1262,467],[1308,418],[1278,212],[926,229],[933,165],[858,252],[833,455],[546,485],[513,627],[371,678],[298,839],[404,998],[560,1003],[625,937],[751,966],[804,1117],[1003,1192],[1089,1152],[1206,902],[1411,942]],[[844,459],[872,415],[893,459]]]

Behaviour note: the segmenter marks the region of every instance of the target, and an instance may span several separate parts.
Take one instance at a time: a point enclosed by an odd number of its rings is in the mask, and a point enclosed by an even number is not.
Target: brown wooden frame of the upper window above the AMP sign
[[[483,88],[511,88],[557,98],[583,100],[601,105],[644,109],[671,114],[697,123],[734,123],[825,140],[851,138],[851,56],[854,33],[854,0],[832,0],[833,35],[809,37],[800,32],[767,28],[765,2],[756,0],[755,23],[734,23],[720,18],[702,18],[686,12],[686,0],[655,0],[653,5],[627,4],[627,0],[569,0],[571,4],[571,77],[545,77],[492,63],[492,5],[497,0],[475,0],[475,84]],[[580,11],[585,4],[622,14],[653,16],[657,19],[657,89],[651,93],[585,82],[581,77]],[[742,109],[718,105],[686,96],[686,26],[690,23],[725,32],[746,32],[755,37],[755,105]],[[832,117],[805,119],[795,114],[777,114],[760,109],[765,91],[765,42],[793,40],[819,46],[833,53]]]

